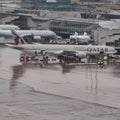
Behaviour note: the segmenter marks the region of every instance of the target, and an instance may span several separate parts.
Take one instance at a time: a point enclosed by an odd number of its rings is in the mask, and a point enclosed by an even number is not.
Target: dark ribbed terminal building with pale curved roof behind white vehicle
[[[77,32],[78,34],[91,34],[91,30],[98,28],[98,21],[95,19],[81,19],[63,17],[50,22],[50,30],[63,38],[69,38],[70,35]]]

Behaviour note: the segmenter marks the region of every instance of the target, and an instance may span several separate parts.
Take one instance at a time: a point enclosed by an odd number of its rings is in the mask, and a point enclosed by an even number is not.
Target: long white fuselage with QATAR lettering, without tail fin
[[[85,52],[86,54],[99,54],[101,51],[105,54],[116,53],[113,47],[97,46],[97,45],[55,45],[55,44],[23,44],[11,45],[12,48],[22,50],[24,52],[57,52],[57,51],[75,51]]]

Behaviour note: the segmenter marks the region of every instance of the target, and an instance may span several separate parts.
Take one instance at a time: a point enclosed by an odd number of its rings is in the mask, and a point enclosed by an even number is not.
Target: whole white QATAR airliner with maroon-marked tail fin
[[[26,53],[57,56],[60,60],[81,59],[87,55],[99,55],[100,53],[106,55],[116,53],[115,48],[105,45],[27,44],[16,31],[12,30],[11,33],[14,36],[15,45],[6,44],[7,46]]]

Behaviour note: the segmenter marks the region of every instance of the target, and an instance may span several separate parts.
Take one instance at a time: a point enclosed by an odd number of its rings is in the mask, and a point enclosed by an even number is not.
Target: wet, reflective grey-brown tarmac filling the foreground
[[[22,64],[0,46],[1,120],[119,120],[120,67]]]

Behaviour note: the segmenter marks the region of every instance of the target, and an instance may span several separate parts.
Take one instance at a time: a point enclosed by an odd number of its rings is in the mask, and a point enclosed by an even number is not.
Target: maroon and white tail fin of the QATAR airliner
[[[23,39],[22,36],[18,35],[18,33],[15,30],[11,30],[13,39],[16,45],[18,44],[27,44],[27,42]]]

